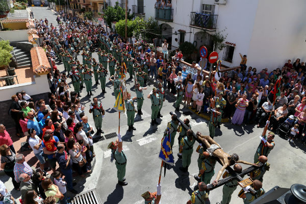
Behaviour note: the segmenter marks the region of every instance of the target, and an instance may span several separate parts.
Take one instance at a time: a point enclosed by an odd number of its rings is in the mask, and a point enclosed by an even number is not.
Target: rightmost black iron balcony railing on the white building
[[[215,30],[218,15],[210,15],[204,13],[190,13],[190,25],[201,29]]]

